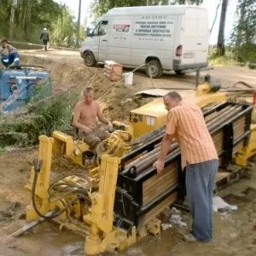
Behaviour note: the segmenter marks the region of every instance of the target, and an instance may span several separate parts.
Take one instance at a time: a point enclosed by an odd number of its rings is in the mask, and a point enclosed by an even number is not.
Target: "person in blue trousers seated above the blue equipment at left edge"
[[[20,56],[18,50],[8,44],[7,39],[1,40],[1,46],[0,54],[3,66],[7,68],[15,62],[15,67],[20,67]]]

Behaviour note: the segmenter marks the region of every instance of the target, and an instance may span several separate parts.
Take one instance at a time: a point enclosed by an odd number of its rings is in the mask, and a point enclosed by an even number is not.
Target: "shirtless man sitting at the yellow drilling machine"
[[[84,100],[79,102],[73,111],[73,126],[79,129],[79,136],[84,137],[84,142],[90,147],[96,148],[96,145],[102,140],[107,139],[110,134],[107,131],[101,131],[96,123],[96,117],[112,131],[111,122],[104,117],[99,104],[94,101],[94,93],[91,87],[84,89]]]

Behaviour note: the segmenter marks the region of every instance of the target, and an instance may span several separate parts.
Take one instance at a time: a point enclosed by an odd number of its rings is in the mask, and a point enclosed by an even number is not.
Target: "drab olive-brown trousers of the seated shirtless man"
[[[102,131],[100,129],[92,131],[90,133],[85,133],[84,131],[79,131],[79,139],[83,139],[84,143],[88,143],[91,148],[96,148],[96,146],[103,140],[110,137],[108,131]]]

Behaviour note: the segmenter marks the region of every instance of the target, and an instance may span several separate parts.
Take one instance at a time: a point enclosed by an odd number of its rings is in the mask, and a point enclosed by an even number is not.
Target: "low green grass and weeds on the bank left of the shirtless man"
[[[44,84],[41,84],[44,86]],[[44,89],[38,90],[38,93]],[[75,96],[64,91],[37,102],[31,101],[19,112],[2,114],[0,121],[0,147],[11,144],[22,146],[38,143],[38,136],[50,136],[53,131],[68,131]],[[39,99],[39,96],[38,96]]]

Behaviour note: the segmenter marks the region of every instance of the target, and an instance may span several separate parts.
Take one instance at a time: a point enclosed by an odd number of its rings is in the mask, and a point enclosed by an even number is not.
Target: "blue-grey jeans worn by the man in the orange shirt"
[[[201,241],[212,239],[212,197],[218,160],[186,167],[186,189],[193,218],[192,235]]]

